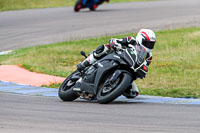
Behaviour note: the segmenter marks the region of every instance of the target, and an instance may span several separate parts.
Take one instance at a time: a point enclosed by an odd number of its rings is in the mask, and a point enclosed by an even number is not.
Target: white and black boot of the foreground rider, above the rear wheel
[[[86,67],[93,64],[96,61],[93,54],[90,54],[83,62],[77,65],[77,70],[82,72]]]

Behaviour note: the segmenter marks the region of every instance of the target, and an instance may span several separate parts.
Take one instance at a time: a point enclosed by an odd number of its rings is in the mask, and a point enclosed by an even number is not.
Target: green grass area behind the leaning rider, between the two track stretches
[[[111,37],[135,33],[36,46],[0,56],[0,64],[21,64],[31,71],[66,77],[89,53]],[[142,94],[200,97],[200,27],[156,32],[153,62],[144,80],[136,83]]]

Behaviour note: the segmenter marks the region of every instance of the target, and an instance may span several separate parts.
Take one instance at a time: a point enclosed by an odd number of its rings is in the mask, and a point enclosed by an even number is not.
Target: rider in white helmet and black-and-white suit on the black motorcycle
[[[105,55],[111,53],[112,50],[117,49],[117,48],[128,47],[129,44],[141,45],[146,50],[147,57],[145,61],[148,67],[152,61],[152,50],[154,48],[155,42],[156,42],[156,36],[155,36],[155,33],[151,29],[141,29],[138,32],[136,39],[130,36],[122,38],[122,39],[111,38],[109,40],[109,44],[103,44],[103,45],[98,46],[96,50],[93,51],[92,54],[90,54],[83,62],[79,63],[77,65],[77,70],[81,72],[87,66],[93,64],[96,60],[99,60]],[[143,77],[139,77],[138,75],[135,77],[135,79],[137,78],[143,78]],[[139,94],[139,90],[134,81],[132,85],[130,86],[130,88],[128,88],[123,93],[123,95],[126,96],[127,98],[135,98],[138,94]]]

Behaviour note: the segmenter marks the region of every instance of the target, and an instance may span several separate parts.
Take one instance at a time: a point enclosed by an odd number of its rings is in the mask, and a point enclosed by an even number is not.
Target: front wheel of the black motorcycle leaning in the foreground
[[[97,93],[97,101],[101,104],[107,104],[120,96],[131,84],[132,78],[127,73],[122,73],[115,81],[115,83],[108,83],[112,75],[105,79],[101,84]],[[110,84],[110,85],[109,85]]]

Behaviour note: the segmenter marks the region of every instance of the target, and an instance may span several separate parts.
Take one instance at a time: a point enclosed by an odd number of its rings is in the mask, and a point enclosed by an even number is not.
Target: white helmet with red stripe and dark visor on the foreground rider
[[[147,52],[151,52],[156,43],[156,35],[150,29],[141,29],[136,36],[136,42],[142,45]]]

